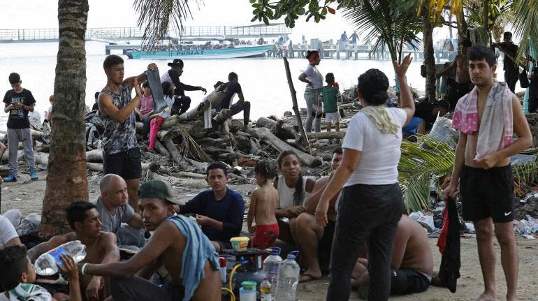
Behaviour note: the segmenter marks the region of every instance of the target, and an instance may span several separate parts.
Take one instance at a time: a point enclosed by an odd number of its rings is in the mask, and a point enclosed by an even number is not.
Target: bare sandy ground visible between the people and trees
[[[38,172],[39,179],[31,181],[29,175],[20,173],[18,182],[3,183],[1,185],[1,213],[10,209],[22,210],[23,216],[31,212],[41,214],[43,194],[45,193],[46,172]],[[99,196],[99,179],[100,174],[89,175],[89,199],[92,200]],[[232,189],[240,191],[242,196],[247,200],[250,191],[255,186],[230,185]],[[183,189],[173,187],[178,198],[188,200],[191,195],[197,193],[196,189]],[[182,191],[181,193],[179,191]],[[245,228],[246,223],[243,223]],[[244,229],[246,230],[246,229]],[[538,300],[538,240],[526,240],[517,236],[516,240],[519,246],[520,270],[518,281],[518,299],[519,300]],[[495,241],[495,239],[494,239]],[[430,246],[434,256],[434,267],[438,268],[441,263],[441,255],[437,250],[437,239],[430,238]],[[504,300],[506,293],[506,284],[504,274],[500,264],[499,244],[495,242],[497,252],[496,264],[496,284],[497,298]],[[458,279],[458,288],[456,293],[451,293],[448,288],[430,287],[425,293],[403,296],[391,296],[391,300],[475,300],[484,288],[482,275],[477,254],[477,242],[474,237],[461,238],[461,277]],[[310,281],[299,284],[297,290],[298,300],[321,301],[325,300],[328,279],[323,277],[317,281]],[[349,300],[358,300],[356,291],[351,292]]]

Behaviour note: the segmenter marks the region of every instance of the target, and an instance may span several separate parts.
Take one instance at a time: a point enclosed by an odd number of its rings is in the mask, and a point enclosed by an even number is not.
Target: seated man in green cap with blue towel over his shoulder
[[[110,277],[114,300],[220,300],[215,248],[196,223],[175,215],[177,200],[170,186],[152,179],[140,186],[139,197],[144,224],[154,231],[152,239],[127,261],[85,264],[81,274]],[[146,280],[154,272],[162,286]]]

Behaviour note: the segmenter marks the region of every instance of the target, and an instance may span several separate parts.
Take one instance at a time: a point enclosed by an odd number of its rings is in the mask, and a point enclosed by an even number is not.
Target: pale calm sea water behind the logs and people
[[[94,93],[106,85],[106,75],[102,67],[106,57],[105,45],[99,42],[86,43],[86,104],[90,107],[94,103]],[[22,87],[29,89],[36,98],[36,112],[43,115],[43,111],[50,106],[48,98],[54,90],[57,51],[58,43],[0,44],[0,92],[2,95],[3,91],[11,89],[8,82],[9,73],[17,72],[21,75]],[[147,68],[147,64],[152,62],[146,59],[127,59],[127,57],[124,59],[125,77],[140,74]],[[161,74],[168,70],[168,61],[170,60],[154,60]],[[181,81],[188,85],[205,87],[209,91],[218,80],[226,82],[228,73],[231,71],[238,73],[245,99],[252,104],[251,119],[272,114],[282,116],[284,111],[291,111],[291,96],[282,59],[201,59],[186,60],[184,64]],[[298,80],[298,75],[306,68],[307,60],[289,59],[289,64],[299,106],[304,107],[305,84]],[[420,75],[420,65],[421,62],[414,61],[409,67],[407,76],[409,85],[423,90],[425,80]],[[390,61],[323,59],[318,68],[323,75],[328,72],[334,73],[336,81],[340,83],[340,89],[355,85],[358,75],[370,68],[378,68],[384,71],[389,79],[393,78]],[[502,80],[502,71],[499,76]],[[391,80],[391,85],[394,85],[394,80]],[[187,95],[191,97],[191,105],[196,105],[203,98],[201,91],[187,91]],[[2,110],[0,129],[6,129],[6,122],[7,114]]]

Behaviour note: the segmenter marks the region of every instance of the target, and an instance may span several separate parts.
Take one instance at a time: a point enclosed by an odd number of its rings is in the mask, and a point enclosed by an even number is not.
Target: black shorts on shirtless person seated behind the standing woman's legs
[[[430,279],[417,270],[391,270],[391,293],[410,294],[426,291]]]

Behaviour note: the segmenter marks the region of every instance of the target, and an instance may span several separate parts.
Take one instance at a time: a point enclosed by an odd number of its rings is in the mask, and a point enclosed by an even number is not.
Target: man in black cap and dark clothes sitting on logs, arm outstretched
[[[181,59],[174,59],[171,63],[168,63],[170,70],[161,75],[161,84],[163,82],[170,82],[174,86],[175,101],[172,108],[172,115],[182,115],[189,110],[191,106],[191,98],[185,96],[185,91],[203,91],[203,94],[208,93],[203,87],[195,87],[191,85],[185,85],[180,82],[180,76],[183,74],[183,61]]]

